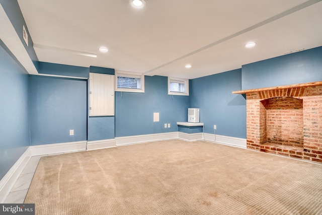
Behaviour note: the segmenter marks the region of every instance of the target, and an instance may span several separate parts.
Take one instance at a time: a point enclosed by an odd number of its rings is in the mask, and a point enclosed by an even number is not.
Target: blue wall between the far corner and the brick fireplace
[[[241,69],[191,80],[191,108],[200,108],[205,133],[246,138],[246,99],[241,90]]]

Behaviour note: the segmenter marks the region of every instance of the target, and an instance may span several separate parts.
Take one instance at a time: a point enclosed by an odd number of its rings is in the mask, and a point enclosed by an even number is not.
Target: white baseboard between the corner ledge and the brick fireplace
[[[246,149],[246,139],[224,136],[212,133],[204,133],[204,140],[215,142],[216,144],[222,144],[230,147],[238,147],[241,149]]]

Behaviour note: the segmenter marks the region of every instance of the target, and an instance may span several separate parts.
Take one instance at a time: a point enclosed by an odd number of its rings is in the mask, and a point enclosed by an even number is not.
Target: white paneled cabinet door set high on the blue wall
[[[90,116],[114,116],[114,76],[90,73]]]

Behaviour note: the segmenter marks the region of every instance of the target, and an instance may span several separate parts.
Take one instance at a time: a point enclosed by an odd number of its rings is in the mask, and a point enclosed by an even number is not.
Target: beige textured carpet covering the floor
[[[42,157],[36,214],[322,214],[322,165],[206,141]]]

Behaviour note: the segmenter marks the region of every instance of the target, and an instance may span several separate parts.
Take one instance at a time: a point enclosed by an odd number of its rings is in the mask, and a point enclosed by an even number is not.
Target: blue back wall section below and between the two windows
[[[115,136],[178,131],[177,122],[187,121],[189,96],[168,95],[168,78],[145,76],[145,93],[115,92]],[[153,122],[153,112],[159,122]],[[170,128],[165,128],[170,123]]]

